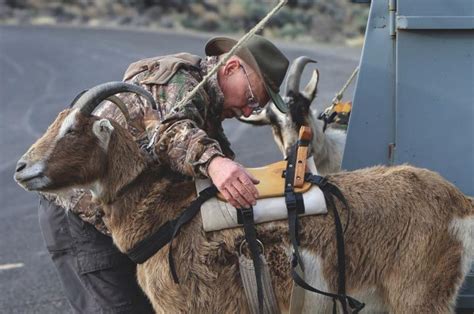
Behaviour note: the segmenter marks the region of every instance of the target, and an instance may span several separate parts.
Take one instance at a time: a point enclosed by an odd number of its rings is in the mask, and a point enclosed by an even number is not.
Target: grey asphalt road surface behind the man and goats
[[[0,313],[68,313],[38,226],[37,196],[12,179],[15,164],[81,90],[120,80],[143,57],[202,55],[208,35],[52,27],[0,27]],[[277,43],[290,58],[318,60],[315,106],[325,107],[358,63],[360,51]],[[304,79],[308,79],[305,72]],[[351,90],[347,92],[351,97]],[[238,161],[280,160],[269,128],[225,123]]]

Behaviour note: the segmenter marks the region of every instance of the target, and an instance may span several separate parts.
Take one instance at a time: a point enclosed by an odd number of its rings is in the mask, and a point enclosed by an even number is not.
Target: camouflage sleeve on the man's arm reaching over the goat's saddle
[[[209,95],[204,90],[182,107],[179,101],[198,84],[185,70],[179,70],[166,85],[152,88],[163,114],[152,138],[154,153],[161,163],[192,177],[207,177],[207,167],[215,156],[224,156],[219,143],[204,131],[208,118]]]

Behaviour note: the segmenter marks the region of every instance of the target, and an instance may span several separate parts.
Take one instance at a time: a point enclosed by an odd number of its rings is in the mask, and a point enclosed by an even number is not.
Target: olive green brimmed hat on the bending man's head
[[[206,55],[219,56],[229,52],[237,40],[228,37],[214,37],[206,44]],[[285,113],[288,106],[281,98],[280,85],[285,78],[289,61],[269,40],[262,36],[252,36],[236,55],[244,60],[262,78],[268,95],[277,108]]]

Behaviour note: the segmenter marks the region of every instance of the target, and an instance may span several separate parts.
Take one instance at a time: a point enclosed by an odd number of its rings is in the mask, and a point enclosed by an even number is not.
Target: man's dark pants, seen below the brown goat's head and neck
[[[43,197],[39,221],[74,312],[153,313],[138,286],[136,265],[110,237]]]

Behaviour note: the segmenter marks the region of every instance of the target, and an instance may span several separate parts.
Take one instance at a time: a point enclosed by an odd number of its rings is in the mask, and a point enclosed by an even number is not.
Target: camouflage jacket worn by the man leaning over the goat
[[[202,80],[217,60],[215,57],[197,59],[198,62],[194,65],[172,60],[165,63],[165,66],[169,67],[168,70],[172,71],[171,75],[168,71],[164,76],[157,77],[156,73],[162,62],[169,61],[166,59],[169,57],[173,56],[138,61],[130,65],[124,76],[124,81],[138,84],[154,96],[158,105],[156,112],[143,97],[127,93],[118,96],[130,111],[128,124],[118,108],[109,102],[105,102],[95,114],[112,118],[128,127],[140,147],[147,150],[157,162],[167,164],[174,171],[188,177],[207,177],[207,166],[213,157],[234,158],[220,119],[224,97],[217,83],[217,75],[211,77],[205,88],[200,90],[192,101],[180,108],[177,104]],[[163,77],[166,79],[165,83]],[[150,120],[150,113],[161,119]],[[153,138],[152,134],[155,135]],[[150,139],[153,145],[147,149]],[[53,201],[108,234],[102,220],[102,211],[91,202],[89,192],[76,190],[67,196],[66,200]]]

